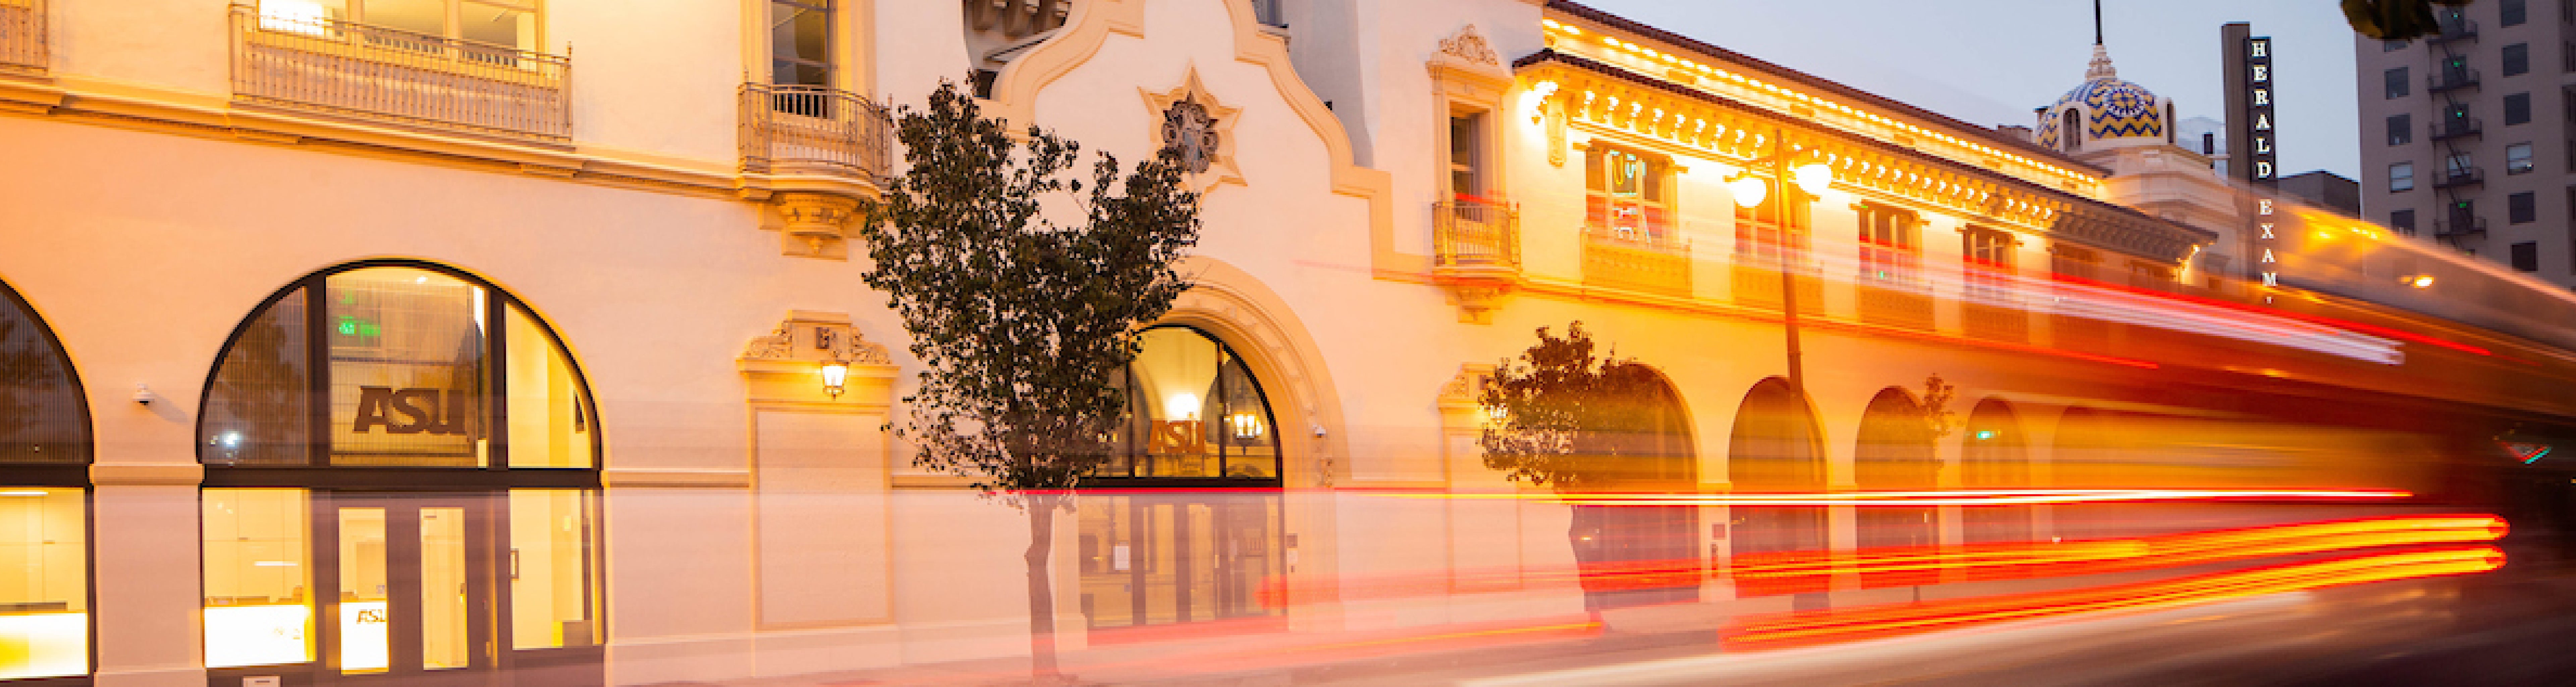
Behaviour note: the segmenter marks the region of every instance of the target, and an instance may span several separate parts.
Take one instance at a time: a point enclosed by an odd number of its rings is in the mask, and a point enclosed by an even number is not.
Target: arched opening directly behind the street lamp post
[[[1806,409],[1783,378],[1765,378],[1744,394],[1736,409],[1736,427],[1726,443],[1726,476],[1739,494],[1819,494],[1824,491],[1824,448],[1816,414]],[[1783,553],[1824,551],[1824,507],[1728,507],[1731,551]],[[1752,589],[1736,582],[1739,594],[1824,592],[1819,589]]]

